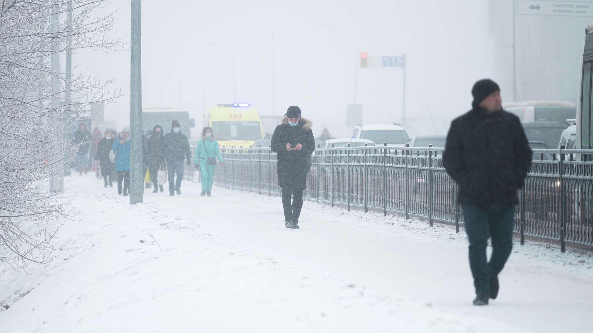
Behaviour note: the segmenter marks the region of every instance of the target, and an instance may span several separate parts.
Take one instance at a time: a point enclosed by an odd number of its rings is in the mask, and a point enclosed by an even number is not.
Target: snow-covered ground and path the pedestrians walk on
[[[130,206],[93,175],[54,260],[0,277],[0,332],[585,332],[593,254],[515,244],[489,306],[448,226],[215,188]],[[462,230],[463,231],[463,230]]]

